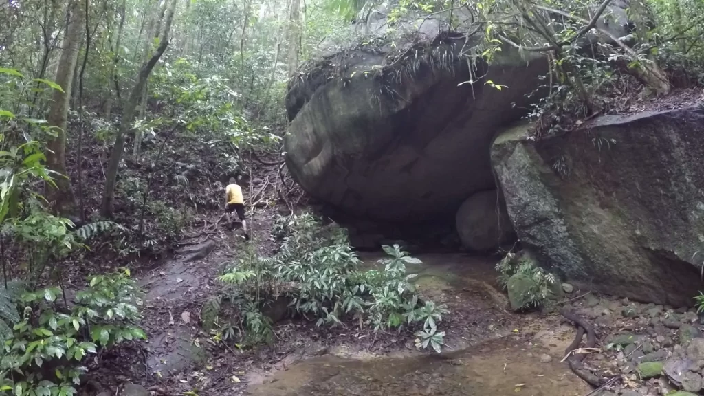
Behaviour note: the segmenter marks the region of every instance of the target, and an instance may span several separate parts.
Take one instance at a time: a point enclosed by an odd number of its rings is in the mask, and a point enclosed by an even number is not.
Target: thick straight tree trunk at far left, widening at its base
[[[56,214],[76,216],[78,210],[76,198],[71,190],[70,179],[66,174],[66,123],[73,75],[78,58],[78,46],[83,38],[81,1],[72,1],[68,7],[68,13],[66,37],[63,40],[63,51],[56,69],[56,84],[61,86],[63,92],[54,89],[51,97],[53,101],[47,118],[48,125],[55,127],[56,137],[50,137],[47,142],[46,165],[59,176],[55,180],[56,186],[45,184],[45,194]]]

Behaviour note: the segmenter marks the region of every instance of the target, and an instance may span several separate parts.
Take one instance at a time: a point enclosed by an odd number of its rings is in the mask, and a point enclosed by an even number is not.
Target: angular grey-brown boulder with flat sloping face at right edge
[[[603,116],[491,149],[508,214],[542,266],[584,287],[675,307],[703,286],[704,109]]]

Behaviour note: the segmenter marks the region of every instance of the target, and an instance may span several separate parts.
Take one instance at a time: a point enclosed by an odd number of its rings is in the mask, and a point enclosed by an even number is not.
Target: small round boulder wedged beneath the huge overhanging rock
[[[513,224],[496,190],[478,192],[460,206],[455,216],[457,233],[465,249],[496,249],[514,237]]]

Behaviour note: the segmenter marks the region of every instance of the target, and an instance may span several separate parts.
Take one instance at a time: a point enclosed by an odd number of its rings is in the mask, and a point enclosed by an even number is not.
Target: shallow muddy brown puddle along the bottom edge
[[[501,338],[446,356],[301,361],[252,385],[258,396],[586,395],[559,359],[542,362],[521,338]]]

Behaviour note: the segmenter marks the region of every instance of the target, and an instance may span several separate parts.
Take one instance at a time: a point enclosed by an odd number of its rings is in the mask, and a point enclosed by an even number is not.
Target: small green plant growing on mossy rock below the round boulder
[[[536,266],[529,257],[519,256],[513,252],[508,252],[496,264],[496,272],[499,273],[498,283],[504,290],[508,284],[508,279],[516,273],[524,273],[532,278],[537,287],[534,290],[529,290],[527,292],[529,295],[524,296],[522,300],[536,307],[547,302],[548,297],[553,295],[553,285],[557,283],[555,275]]]

